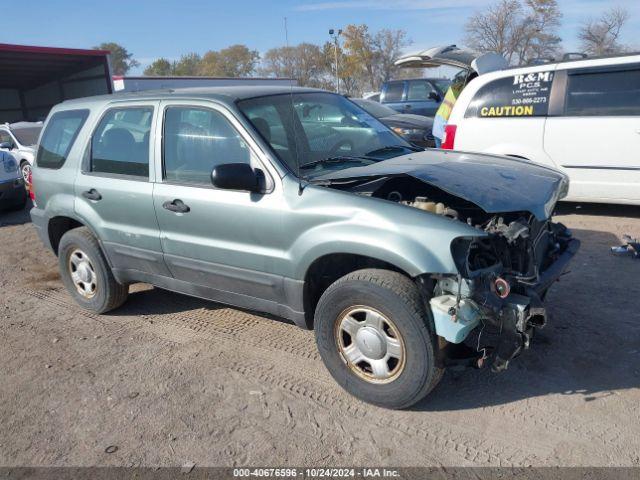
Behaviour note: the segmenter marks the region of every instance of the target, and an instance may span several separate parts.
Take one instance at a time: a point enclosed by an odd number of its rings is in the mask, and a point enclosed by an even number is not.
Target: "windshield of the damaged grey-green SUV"
[[[238,107],[280,160],[302,177],[369,165],[413,149],[341,95],[270,95],[242,100]]]

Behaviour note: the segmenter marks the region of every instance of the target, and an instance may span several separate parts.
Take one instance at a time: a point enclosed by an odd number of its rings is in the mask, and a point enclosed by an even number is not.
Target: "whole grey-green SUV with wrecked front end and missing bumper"
[[[551,221],[567,188],[413,147],[341,95],[228,87],[57,105],[31,218],[84,308],[147,282],[284,317],[347,391],[404,408],[448,365],[501,371],[530,345],[579,246]]]

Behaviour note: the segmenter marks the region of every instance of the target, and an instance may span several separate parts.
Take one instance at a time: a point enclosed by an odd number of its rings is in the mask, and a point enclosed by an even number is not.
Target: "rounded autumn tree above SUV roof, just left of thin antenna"
[[[260,55],[246,45],[232,45],[220,51],[210,50],[204,54],[199,75],[211,77],[248,77],[255,72]]]

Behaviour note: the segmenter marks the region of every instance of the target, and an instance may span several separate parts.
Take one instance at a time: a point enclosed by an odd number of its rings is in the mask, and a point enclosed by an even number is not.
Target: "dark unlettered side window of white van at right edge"
[[[640,115],[640,68],[570,73],[565,115]]]

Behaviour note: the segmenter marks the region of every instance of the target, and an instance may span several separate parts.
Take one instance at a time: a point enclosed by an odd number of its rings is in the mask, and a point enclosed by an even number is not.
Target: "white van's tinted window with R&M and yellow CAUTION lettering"
[[[545,116],[553,76],[553,72],[535,72],[494,80],[478,90],[465,117]]]

